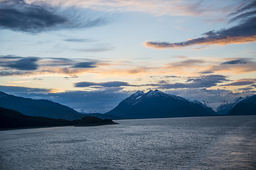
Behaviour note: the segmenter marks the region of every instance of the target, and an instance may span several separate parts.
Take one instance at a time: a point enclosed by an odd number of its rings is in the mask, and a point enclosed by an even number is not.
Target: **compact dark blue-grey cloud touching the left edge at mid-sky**
[[[36,70],[39,65],[36,63],[38,57],[24,57],[16,61],[3,61],[0,63],[2,67],[10,67],[17,70]]]

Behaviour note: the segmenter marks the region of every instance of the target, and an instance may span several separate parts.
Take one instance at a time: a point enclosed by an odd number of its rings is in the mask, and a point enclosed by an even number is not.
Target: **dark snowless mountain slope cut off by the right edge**
[[[228,115],[256,115],[256,95],[246,97],[245,99],[240,101],[228,112]]]

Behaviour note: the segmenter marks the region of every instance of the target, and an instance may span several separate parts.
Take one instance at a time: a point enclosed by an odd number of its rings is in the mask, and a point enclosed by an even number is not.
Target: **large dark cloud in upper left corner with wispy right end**
[[[0,27],[27,33],[57,29],[86,28],[106,24],[103,17],[91,18],[86,13],[78,14],[75,7],[49,7],[49,5],[27,4],[24,0],[0,2]]]

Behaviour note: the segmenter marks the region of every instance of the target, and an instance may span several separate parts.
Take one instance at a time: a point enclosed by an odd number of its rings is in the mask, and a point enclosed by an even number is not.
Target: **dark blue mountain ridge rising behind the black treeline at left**
[[[4,92],[0,92],[0,106],[7,109],[13,109],[18,112],[21,112],[22,114],[30,115],[30,116],[44,116],[49,118],[61,118],[61,119],[67,119],[67,120],[81,119],[82,117],[84,117],[84,114],[79,113],[70,107],[61,105],[59,103],[55,103],[53,101],[44,100],[44,99],[36,100],[36,99],[30,99],[30,98],[24,98],[24,97],[17,97],[15,95],[9,95]],[[102,114],[99,114],[99,115],[100,115],[100,118],[103,118],[103,119],[108,118],[108,119],[117,120],[116,116],[112,116],[112,115],[101,116]],[[91,116],[91,115],[87,115],[87,116]],[[93,115],[93,116],[98,117],[97,115]],[[123,118],[120,118],[120,119],[123,119]]]

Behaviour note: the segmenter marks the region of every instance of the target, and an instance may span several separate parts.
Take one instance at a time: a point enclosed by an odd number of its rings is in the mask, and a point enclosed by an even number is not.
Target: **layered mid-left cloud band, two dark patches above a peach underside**
[[[75,75],[88,72],[91,68],[98,67],[95,66],[95,64],[99,61],[86,58],[70,59],[18,56],[0,56],[0,59],[0,76],[51,73]]]

